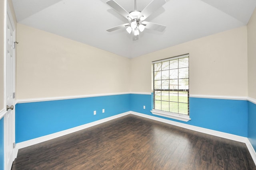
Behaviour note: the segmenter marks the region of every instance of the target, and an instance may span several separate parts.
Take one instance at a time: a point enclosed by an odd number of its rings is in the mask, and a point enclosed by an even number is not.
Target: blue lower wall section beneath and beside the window
[[[190,98],[191,120],[188,122],[153,115],[150,110],[151,95],[131,94],[131,111],[247,137],[248,101],[245,100]]]

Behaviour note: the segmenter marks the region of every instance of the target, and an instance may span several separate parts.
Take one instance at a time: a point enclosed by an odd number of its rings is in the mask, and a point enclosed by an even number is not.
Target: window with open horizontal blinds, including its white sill
[[[190,120],[188,65],[188,55],[152,62],[153,114]]]

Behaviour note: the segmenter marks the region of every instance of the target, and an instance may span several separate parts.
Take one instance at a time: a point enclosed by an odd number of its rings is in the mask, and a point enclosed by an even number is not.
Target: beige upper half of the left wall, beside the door
[[[18,24],[17,99],[129,92],[130,59]]]

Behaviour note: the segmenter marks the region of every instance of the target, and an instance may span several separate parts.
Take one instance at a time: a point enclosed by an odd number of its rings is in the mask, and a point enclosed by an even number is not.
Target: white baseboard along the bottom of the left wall
[[[100,123],[104,123],[104,122],[107,122],[107,121],[110,121],[110,120],[113,120],[113,119],[116,119],[116,118],[119,118],[119,117],[122,117],[122,116],[125,116],[125,115],[128,115],[128,114],[130,114],[130,111],[125,112],[125,113],[120,113],[118,115],[114,115],[114,116],[107,117],[107,118],[104,118],[104,119],[100,119],[98,121],[94,121],[94,122],[87,123],[87,124],[84,124],[84,125],[80,125],[80,126],[77,126],[77,127],[73,127],[71,129],[67,129],[67,130],[64,130],[64,131],[52,133],[50,135],[46,135],[46,136],[38,137],[38,138],[35,138],[35,139],[31,139],[31,140],[28,140],[28,141],[20,142],[20,143],[16,144],[16,151],[18,153],[19,149],[29,147],[31,145],[35,145],[35,144],[38,144],[38,143],[42,143],[44,141],[48,141],[48,140],[51,140],[51,139],[54,139],[54,138],[57,138],[57,137],[61,137],[61,136],[64,136],[64,135],[68,135],[70,133],[80,131],[82,129],[86,129],[88,127],[92,127],[92,126],[98,125]]]

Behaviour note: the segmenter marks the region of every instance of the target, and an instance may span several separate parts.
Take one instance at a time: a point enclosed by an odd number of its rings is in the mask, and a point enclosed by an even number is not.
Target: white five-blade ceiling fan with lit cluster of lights
[[[126,31],[128,33],[132,32],[133,40],[137,40],[139,38],[138,35],[140,34],[140,32],[144,31],[145,28],[154,29],[156,31],[164,31],[164,29],[166,28],[165,25],[144,21],[146,18],[148,18],[148,16],[150,16],[150,14],[152,14],[162,5],[164,5],[166,3],[166,0],[152,0],[152,2],[150,2],[148,6],[146,6],[146,8],[144,8],[144,10],[142,11],[136,9],[136,0],[134,0],[135,9],[129,13],[114,0],[108,0],[106,3],[129,21],[129,23],[124,23],[122,25],[107,29],[108,32],[126,28]]]

